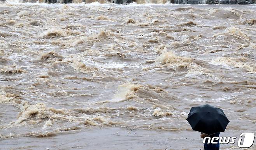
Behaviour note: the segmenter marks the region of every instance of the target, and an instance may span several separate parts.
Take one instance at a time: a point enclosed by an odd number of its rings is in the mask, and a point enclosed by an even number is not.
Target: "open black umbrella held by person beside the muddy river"
[[[192,107],[186,120],[193,130],[208,135],[224,132],[229,122],[222,109],[211,105]]]

